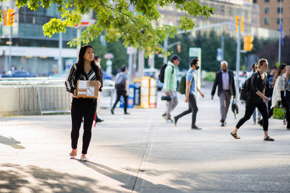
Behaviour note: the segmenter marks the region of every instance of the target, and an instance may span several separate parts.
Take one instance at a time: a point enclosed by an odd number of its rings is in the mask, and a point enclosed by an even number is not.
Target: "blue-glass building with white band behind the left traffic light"
[[[12,47],[11,65],[8,57],[10,55],[9,38],[10,26],[0,27],[0,68],[4,67],[8,72],[11,67],[35,73],[38,76],[48,76],[57,73],[58,69],[65,69],[76,62],[78,53],[76,48],[70,48],[67,42],[76,38],[77,30],[67,28],[62,34],[62,63],[59,67],[59,33],[55,33],[51,38],[44,36],[42,26],[51,18],[58,18],[57,5],[51,5],[45,9],[39,6],[37,11],[32,11],[28,6],[18,9],[15,1],[8,0],[0,3],[1,11],[7,9],[14,10],[14,23],[12,26]],[[1,56],[2,55],[2,56]]]

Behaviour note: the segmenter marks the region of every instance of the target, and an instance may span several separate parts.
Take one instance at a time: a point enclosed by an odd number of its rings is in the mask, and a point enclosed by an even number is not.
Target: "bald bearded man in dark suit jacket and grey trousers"
[[[222,122],[221,126],[226,124],[226,114],[228,113],[231,103],[231,96],[236,97],[235,81],[233,71],[228,69],[228,63],[222,61],[220,71],[215,73],[215,82],[213,83],[213,89],[211,90],[211,99],[215,95],[215,89],[218,85],[218,96],[220,97],[220,115]]]

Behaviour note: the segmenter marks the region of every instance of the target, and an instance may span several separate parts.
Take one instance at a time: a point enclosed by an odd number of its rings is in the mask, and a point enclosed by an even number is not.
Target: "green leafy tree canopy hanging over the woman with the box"
[[[70,46],[87,44],[105,31],[107,42],[118,41],[121,38],[125,47],[144,49],[145,56],[153,51],[169,55],[170,53],[165,53],[158,43],[167,36],[173,38],[178,28],[184,31],[193,30],[195,23],[192,17],[199,15],[208,19],[214,10],[208,5],[201,5],[198,0],[16,0],[15,3],[18,8],[28,5],[31,10],[37,10],[39,6],[49,8],[51,4],[58,5],[61,16],[44,24],[45,36],[66,32],[66,27],[80,24],[82,15],[94,10],[96,23],[87,27],[80,38],[70,41]],[[161,17],[157,7],[172,4],[177,12],[184,13],[180,18],[180,26],[153,27],[152,23]],[[135,11],[129,10],[129,6],[133,6]]]

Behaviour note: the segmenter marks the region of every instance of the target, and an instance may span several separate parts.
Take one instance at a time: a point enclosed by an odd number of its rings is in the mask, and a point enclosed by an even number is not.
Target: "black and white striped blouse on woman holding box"
[[[101,74],[100,82],[101,82],[101,87],[99,88],[99,91],[102,91],[103,87],[103,74],[102,74],[102,69],[99,67],[99,71]],[[66,91],[70,92],[74,95],[74,90],[77,88],[77,80],[98,80],[96,73],[93,69],[93,67],[89,70],[88,73],[84,70],[84,73],[81,73],[76,80],[74,80],[75,74],[77,73],[77,64],[73,64],[70,69],[68,70],[68,75],[66,76],[66,81],[65,81],[65,86],[66,86]]]

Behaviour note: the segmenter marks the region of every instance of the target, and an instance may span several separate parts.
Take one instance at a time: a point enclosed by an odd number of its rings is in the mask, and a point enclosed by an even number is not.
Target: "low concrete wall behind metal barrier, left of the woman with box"
[[[0,85],[0,116],[40,115],[36,85]],[[69,111],[71,93],[64,85],[39,84],[42,111]]]

